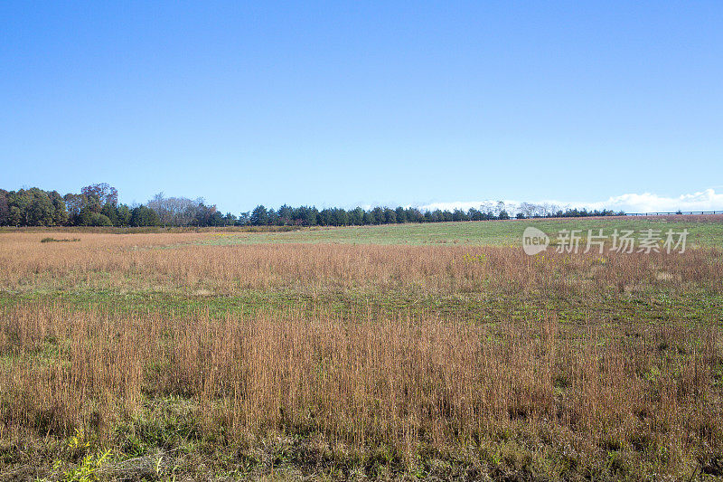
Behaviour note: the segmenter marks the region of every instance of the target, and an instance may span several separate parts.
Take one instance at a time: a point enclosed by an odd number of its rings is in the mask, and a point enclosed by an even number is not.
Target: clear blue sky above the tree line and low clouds
[[[6,1],[0,186],[723,209],[721,59],[718,1]]]

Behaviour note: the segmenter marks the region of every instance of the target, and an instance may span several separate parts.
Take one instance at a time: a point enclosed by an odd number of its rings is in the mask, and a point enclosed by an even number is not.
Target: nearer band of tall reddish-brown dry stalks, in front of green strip
[[[23,303],[0,318],[0,430],[105,433],[144,397],[174,395],[195,403],[202,430],[237,440],[317,433],[412,454],[522,430],[589,453],[662,446],[671,463],[723,449],[718,326],[560,328],[554,316],[483,326]]]

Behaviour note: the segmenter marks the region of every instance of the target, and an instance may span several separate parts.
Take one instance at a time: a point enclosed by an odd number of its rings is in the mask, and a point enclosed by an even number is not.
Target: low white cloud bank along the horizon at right
[[[450,203],[429,203],[418,206],[422,211],[434,211],[436,209],[454,211],[461,209],[467,211],[470,208],[488,211],[497,205],[497,201],[455,201]],[[504,200],[505,209],[510,213],[517,213],[522,202]],[[723,210],[723,194],[718,194],[714,189],[706,189],[700,193],[681,194],[677,197],[666,197],[658,194],[621,194],[608,198],[606,201],[596,202],[573,202],[561,201],[531,201],[532,204],[557,206],[561,209],[587,208],[587,209],[610,209],[613,211],[624,211],[625,213],[660,213],[681,211],[720,211]]]

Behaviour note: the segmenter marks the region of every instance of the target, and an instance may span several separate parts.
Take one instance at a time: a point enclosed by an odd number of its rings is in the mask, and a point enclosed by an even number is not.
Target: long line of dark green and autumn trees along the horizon
[[[202,198],[165,197],[156,194],[146,204],[118,203],[117,189],[109,184],[91,184],[80,194],[61,195],[37,187],[5,191],[0,189],[0,226],[362,226],[403,222],[486,221],[540,217],[585,217],[624,214],[610,210],[560,209],[549,204],[521,203],[520,206],[487,203],[480,209],[419,210],[414,207],[377,206],[325,208],[292,207],[277,210],[258,205],[253,211],[221,213]],[[514,213],[512,216],[511,213]]]

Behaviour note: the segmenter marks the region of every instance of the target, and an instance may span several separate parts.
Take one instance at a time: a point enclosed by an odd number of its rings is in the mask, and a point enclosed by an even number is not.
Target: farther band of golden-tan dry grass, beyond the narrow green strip
[[[498,247],[334,244],[188,244],[208,234],[88,234],[45,243],[43,233],[0,234],[0,287],[131,288],[217,294],[273,288],[397,288],[480,291],[490,283],[519,289],[589,291],[640,286],[723,288],[717,250],[529,257]],[[163,249],[171,245],[173,248]]]

